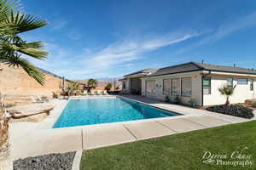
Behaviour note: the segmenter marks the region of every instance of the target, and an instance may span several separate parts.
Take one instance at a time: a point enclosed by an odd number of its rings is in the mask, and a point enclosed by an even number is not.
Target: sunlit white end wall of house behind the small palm
[[[204,105],[223,105],[226,101],[225,97],[221,95],[218,88],[221,88],[227,83],[227,78],[233,78],[233,85],[236,85],[234,94],[230,97],[230,103],[243,103],[246,99],[253,99],[256,97],[256,79],[253,77],[241,76],[221,76],[213,75],[211,77],[211,94],[204,94]],[[237,84],[237,78],[247,78],[247,84]],[[250,90],[249,80],[253,79],[253,91]]]

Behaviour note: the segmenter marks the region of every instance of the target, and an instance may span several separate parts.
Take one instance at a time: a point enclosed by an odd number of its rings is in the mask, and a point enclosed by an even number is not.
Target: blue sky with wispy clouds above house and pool
[[[67,3],[68,2],[68,3]],[[189,61],[256,67],[256,1],[21,0],[49,21],[24,33],[39,67],[69,79],[121,77]]]

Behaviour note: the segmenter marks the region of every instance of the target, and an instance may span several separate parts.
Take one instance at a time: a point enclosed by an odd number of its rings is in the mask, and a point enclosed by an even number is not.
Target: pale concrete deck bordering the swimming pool
[[[16,160],[49,153],[91,150],[113,144],[250,121],[181,105],[166,104],[142,96],[127,95],[123,97],[183,115],[130,122],[51,128],[67,105],[67,100],[55,99],[51,101],[55,105],[55,109],[43,122],[10,123],[11,158]]]

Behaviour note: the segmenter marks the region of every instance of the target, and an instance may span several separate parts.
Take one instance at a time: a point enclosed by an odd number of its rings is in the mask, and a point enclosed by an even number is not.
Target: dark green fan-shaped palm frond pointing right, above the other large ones
[[[20,14],[11,12],[6,20],[6,23],[15,27],[16,33],[31,31],[42,26],[48,25],[45,20],[38,19],[30,14]]]

